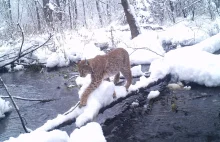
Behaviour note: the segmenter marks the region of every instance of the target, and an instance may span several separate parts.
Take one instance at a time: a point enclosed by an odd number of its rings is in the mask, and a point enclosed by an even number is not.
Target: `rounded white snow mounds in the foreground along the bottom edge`
[[[88,123],[86,126],[76,128],[70,136],[65,131],[53,130],[32,131],[20,134],[17,138],[11,137],[5,142],[106,142],[100,124]]]

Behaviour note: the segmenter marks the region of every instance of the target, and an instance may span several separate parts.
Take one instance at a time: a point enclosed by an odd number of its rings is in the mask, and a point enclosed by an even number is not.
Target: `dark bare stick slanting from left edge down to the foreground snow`
[[[24,120],[23,120],[22,117],[21,117],[21,114],[20,114],[20,112],[19,112],[19,108],[18,108],[18,106],[16,105],[16,103],[15,103],[13,97],[11,96],[10,92],[8,91],[8,87],[5,85],[5,83],[4,83],[4,81],[2,80],[1,77],[0,77],[0,81],[2,82],[2,84],[3,84],[3,86],[4,86],[5,90],[6,90],[6,92],[7,92],[7,94],[8,94],[8,96],[10,97],[10,99],[11,99],[11,101],[12,101],[12,104],[13,104],[14,107],[15,107],[15,110],[16,110],[17,113],[18,113],[18,116],[19,116],[19,118],[20,118],[20,120],[21,120],[21,124],[22,124],[22,126],[23,126],[23,128],[24,128],[24,131],[25,131],[26,133],[29,133],[30,131],[28,130],[28,128],[27,128],[27,127],[25,126],[25,124],[24,124]]]

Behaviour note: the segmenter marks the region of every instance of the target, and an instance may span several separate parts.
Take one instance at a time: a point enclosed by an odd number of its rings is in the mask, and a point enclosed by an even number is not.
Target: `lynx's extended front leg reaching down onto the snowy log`
[[[86,106],[87,104],[87,100],[89,98],[89,95],[96,89],[99,87],[99,85],[101,84],[102,80],[100,81],[96,81],[96,82],[91,82],[90,85],[86,88],[86,90],[83,92],[81,99],[80,99],[80,106]]]

